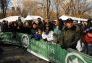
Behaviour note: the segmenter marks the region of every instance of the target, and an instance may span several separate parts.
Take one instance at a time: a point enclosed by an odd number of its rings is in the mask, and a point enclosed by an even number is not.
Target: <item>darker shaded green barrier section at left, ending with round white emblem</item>
[[[29,43],[29,38],[30,35],[24,33],[0,32],[0,42],[3,44],[27,46],[28,44],[25,45],[25,42]]]

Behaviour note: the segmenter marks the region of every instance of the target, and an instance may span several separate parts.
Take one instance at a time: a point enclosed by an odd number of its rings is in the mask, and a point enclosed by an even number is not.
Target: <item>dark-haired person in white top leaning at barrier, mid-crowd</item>
[[[42,33],[42,39],[52,42],[54,40],[53,33],[52,29],[49,26],[46,26],[44,32]]]

